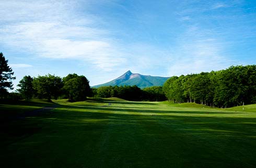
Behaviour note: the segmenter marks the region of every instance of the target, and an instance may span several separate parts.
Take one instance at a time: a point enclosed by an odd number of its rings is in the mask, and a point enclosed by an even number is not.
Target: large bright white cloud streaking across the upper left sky
[[[97,28],[91,20],[94,16],[79,19],[71,14],[69,10],[72,9],[72,3],[17,3],[18,5],[10,1],[0,4],[2,16],[11,13],[13,9],[10,7],[15,8],[12,15],[4,17],[11,22],[0,29],[2,43],[22,48],[40,57],[79,59],[105,71],[118,66],[120,61],[125,61],[109,37],[110,32]],[[46,15],[47,13],[51,16]]]

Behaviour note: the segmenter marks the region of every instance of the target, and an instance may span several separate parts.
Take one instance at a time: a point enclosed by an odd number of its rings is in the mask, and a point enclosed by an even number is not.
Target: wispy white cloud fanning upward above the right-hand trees
[[[191,25],[177,43],[179,51],[173,55],[169,67],[171,75],[209,72],[237,63],[226,53],[226,42],[211,30]]]

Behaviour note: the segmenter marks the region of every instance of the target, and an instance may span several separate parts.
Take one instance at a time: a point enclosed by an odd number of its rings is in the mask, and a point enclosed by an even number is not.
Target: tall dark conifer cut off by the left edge
[[[8,60],[5,60],[3,53],[0,53],[0,95],[4,95],[7,92],[7,88],[13,89],[13,82],[16,77],[13,77],[14,72],[8,66]]]

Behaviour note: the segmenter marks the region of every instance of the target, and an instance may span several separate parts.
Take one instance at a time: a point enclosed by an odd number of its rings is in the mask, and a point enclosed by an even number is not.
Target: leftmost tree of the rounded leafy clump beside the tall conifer
[[[33,78],[31,76],[24,76],[19,84],[17,85],[17,91],[22,95],[25,99],[31,99],[33,97],[34,89],[33,89]]]

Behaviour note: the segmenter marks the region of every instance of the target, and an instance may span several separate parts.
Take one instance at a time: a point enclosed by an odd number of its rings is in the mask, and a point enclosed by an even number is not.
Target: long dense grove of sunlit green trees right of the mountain
[[[233,107],[256,102],[256,66],[172,76],[163,86],[168,100],[207,106]]]

